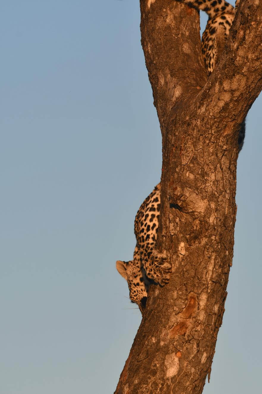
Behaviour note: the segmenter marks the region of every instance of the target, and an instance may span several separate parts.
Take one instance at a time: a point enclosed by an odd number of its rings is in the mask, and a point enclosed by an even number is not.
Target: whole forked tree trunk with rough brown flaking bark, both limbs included
[[[232,264],[236,130],[262,89],[262,3],[240,4],[208,79],[197,11],[170,0],[140,7],[163,141],[158,243],[173,273],[149,290],[115,393],[196,394],[211,370]]]

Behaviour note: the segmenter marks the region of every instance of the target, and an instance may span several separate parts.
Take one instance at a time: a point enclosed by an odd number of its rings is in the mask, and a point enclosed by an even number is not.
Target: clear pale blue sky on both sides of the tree
[[[161,174],[139,2],[14,0],[1,14],[0,394],[110,394],[141,320],[115,261],[132,258],[135,214]],[[204,394],[261,388],[261,108],[238,159]]]

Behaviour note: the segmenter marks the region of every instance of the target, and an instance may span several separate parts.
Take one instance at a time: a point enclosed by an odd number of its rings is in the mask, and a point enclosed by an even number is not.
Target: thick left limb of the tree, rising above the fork
[[[199,14],[175,1],[140,0],[141,43],[161,125],[207,81]],[[184,103],[183,103],[184,105]]]

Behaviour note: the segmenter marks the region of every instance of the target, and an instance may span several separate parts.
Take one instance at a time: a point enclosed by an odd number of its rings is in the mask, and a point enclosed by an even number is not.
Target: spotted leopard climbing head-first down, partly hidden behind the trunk
[[[177,0],[190,7],[205,11],[208,21],[202,35],[201,47],[208,76],[227,41],[239,1],[235,7],[224,0]],[[240,125],[238,151],[242,149],[245,137],[245,121]],[[172,264],[166,253],[157,248],[157,232],[161,208],[161,182],[146,197],[135,217],[136,246],[133,260],[116,261],[116,269],[127,281],[129,298],[136,303],[142,315],[146,310],[148,289],[151,284],[164,286],[170,280]]]

